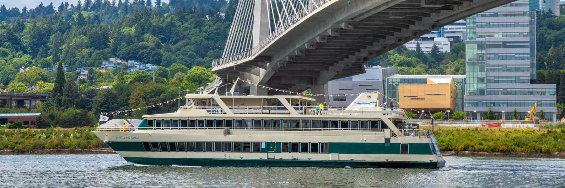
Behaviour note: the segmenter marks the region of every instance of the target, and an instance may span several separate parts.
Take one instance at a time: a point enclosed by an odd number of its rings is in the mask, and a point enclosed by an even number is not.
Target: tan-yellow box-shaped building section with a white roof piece
[[[417,111],[455,111],[457,89],[453,77],[427,78],[426,84],[401,84],[398,86],[400,108]]]

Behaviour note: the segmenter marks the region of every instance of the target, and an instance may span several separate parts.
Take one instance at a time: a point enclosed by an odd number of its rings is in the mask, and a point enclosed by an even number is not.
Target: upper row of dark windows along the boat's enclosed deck
[[[313,128],[388,129],[380,120],[147,120],[148,128]]]

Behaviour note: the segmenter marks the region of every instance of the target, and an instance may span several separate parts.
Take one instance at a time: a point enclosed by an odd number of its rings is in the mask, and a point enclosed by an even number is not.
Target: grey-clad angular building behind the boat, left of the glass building
[[[383,79],[390,75],[398,74],[398,67],[366,67],[366,73],[355,75],[328,82],[328,93],[330,95],[358,94],[364,92],[379,91],[384,93]],[[331,106],[347,106],[357,95],[334,96],[329,98]],[[383,100],[383,95],[379,101]]]

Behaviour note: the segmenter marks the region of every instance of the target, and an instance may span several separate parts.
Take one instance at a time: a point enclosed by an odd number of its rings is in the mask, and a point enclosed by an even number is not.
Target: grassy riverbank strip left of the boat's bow
[[[0,129],[0,150],[77,150],[107,147],[90,133],[93,129]]]

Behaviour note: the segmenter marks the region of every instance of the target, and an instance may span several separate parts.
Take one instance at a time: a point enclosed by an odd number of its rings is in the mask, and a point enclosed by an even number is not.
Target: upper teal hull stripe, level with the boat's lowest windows
[[[145,151],[142,142],[108,142],[115,151]],[[400,143],[328,143],[329,153],[333,154],[401,154]],[[410,155],[434,155],[433,148],[429,143],[410,143],[408,154]],[[262,148],[261,152],[267,152]],[[276,142],[275,152],[281,152],[281,143]]]

